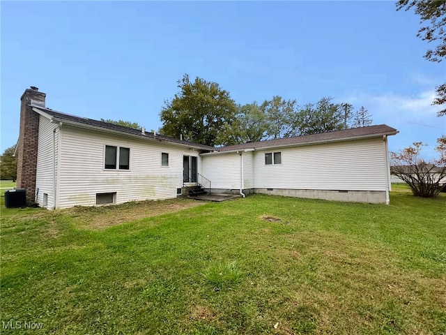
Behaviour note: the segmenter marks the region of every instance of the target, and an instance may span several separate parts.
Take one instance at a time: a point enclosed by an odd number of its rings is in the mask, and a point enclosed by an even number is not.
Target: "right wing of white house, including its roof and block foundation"
[[[201,154],[201,171],[218,191],[388,203],[396,133],[379,125],[223,147]]]

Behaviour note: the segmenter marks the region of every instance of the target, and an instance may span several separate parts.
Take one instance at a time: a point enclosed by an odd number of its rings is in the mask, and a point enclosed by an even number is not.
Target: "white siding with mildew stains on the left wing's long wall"
[[[199,154],[171,144],[65,125],[62,136],[59,208],[92,206],[97,193],[116,192],[116,204],[176,198],[177,188],[183,186],[183,155]],[[105,145],[129,148],[130,170],[104,169]],[[160,166],[162,152],[169,152],[169,169]]]

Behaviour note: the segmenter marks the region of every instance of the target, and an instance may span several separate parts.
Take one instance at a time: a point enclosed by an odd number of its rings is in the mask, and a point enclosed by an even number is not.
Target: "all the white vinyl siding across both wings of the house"
[[[116,147],[117,153],[128,148],[124,165],[130,165],[130,170],[119,170],[118,166],[105,169],[106,146]],[[271,165],[266,165],[267,153],[272,154]],[[386,191],[386,155],[382,137],[244,151],[243,188]],[[47,208],[65,208],[93,206],[97,195],[104,193],[113,194],[116,204],[176,198],[183,186],[183,156],[197,157],[197,172],[211,181],[212,188],[240,188],[240,155],[236,152],[199,156],[199,151],[177,144],[66,124],[59,128],[40,117],[37,200],[43,206],[45,194]]]

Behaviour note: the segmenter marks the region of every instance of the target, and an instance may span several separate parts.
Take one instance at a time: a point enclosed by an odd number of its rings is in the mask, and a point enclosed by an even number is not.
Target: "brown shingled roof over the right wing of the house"
[[[218,148],[218,151],[235,151],[245,149],[263,149],[269,147],[287,147],[292,145],[314,144],[321,142],[337,142],[344,140],[353,140],[355,138],[376,137],[380,135],[396,135],[397,129],[385,124],[378,126],[368,126],[361,128],[350,128],[344,131],[330,131],[314,135],[303,135],[289,138],[279,138],[277,140],[268,140],[262,142],[248,142],[244,144],[230,145],[228,147]]]

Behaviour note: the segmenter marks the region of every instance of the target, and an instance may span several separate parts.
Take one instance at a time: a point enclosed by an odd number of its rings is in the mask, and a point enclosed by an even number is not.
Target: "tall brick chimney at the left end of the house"
[[[17,188],[26,189],[26,204],[33,204],[36,193],[37,144],[39,114],[31,101],[45,107],[45,93],[37,87],[26,89],[20,98],[20,133],[17,142]]]

